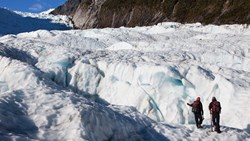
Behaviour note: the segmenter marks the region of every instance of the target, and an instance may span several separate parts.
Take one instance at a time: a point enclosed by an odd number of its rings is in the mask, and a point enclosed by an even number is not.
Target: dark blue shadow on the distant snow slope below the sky
[[[68,30],[71,27],[53,23],[51,19],[23,17],[10,10],[0,8],[0,35],[18,34],[35,30]]]

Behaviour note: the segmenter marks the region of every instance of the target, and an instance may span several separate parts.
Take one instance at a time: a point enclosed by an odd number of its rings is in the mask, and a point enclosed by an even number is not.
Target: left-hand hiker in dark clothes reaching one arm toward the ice
[[[196,127],[201,128],[204,112],[202,108],[202,103],[200,101],[200,97],[197,97],[196,101],[194,101],[192,104],[187,103],[187,105],[192,107],[192,112],[194,113]]]

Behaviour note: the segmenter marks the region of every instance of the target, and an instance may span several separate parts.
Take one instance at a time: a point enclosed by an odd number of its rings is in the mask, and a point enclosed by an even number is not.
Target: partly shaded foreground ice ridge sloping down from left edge
[[[6,54],[12,48],[1,47],[5,48],[0,50],[1,139],[168,140],[154,128],[157,122],[134,107],[94,102],[62,89],[37,67]],[[76,72],[79,67],[93,70],[87,64],[72,69]]]

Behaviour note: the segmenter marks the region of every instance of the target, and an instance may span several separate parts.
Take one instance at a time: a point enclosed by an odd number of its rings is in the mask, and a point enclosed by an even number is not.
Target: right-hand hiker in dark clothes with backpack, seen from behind
[[[220,102],[216,100],[215,97],[212,98],[212,102],[209,104],[208,109],[210,114],[212,115],[213,126],[215,127],[215,131],[220,133],[220,112],[221,106]]]

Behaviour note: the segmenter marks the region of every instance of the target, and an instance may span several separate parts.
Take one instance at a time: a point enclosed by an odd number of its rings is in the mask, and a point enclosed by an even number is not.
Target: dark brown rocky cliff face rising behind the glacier
[[[68,0],[52,14],[76,28],[147,26],[159,22],[250,24],[249,0]]]

